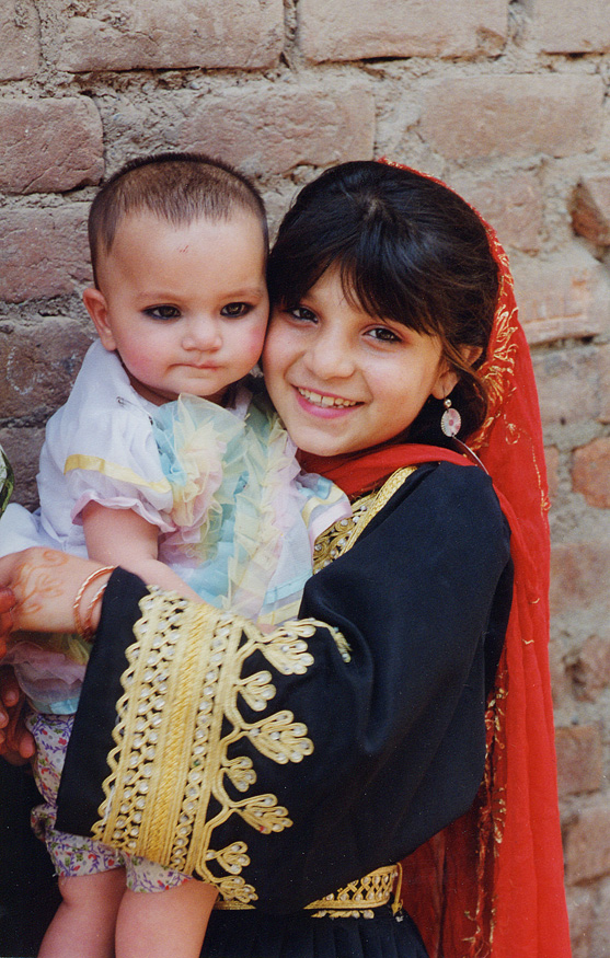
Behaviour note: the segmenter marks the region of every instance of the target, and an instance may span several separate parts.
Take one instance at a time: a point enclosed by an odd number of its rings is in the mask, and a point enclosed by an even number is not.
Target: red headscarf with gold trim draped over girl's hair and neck
[[[402,863],[402,898],[430,958],[567,958],[548,655],[550,544],[542,429],[508,258],[495,232],[484,226],[500,285],[481,370],[488,414],[469,445],[492,476],[510,524],[513,608],[487,708],[480,794],[465,816]],[[469,464],[459,453],[408,443],[360,457],[304,454],[301,461],[355,495],[400,466],[439,460]]]

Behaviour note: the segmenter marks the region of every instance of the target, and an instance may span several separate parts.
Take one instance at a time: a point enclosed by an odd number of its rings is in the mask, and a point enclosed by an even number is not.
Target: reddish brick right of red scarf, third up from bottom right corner
[[[555,746],[560,796],[597,792],[602,782],[602,747],[599,728],[595,725],[557,728]]]

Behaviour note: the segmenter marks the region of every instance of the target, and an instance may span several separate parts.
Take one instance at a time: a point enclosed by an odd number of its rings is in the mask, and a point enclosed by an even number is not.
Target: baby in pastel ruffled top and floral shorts
[[[84,302],[100,338],[47,425],[41,513],[9,507],[2,547],[33,534],[268,630],[298,610],[315,532],[350,509],[326,480],[300,475],[244,379],[268,319],[262,203],[221,163],[163,154],[113,176],[89,227]],[[22,640],[7,656],[32,705],[45,798],[34,816],[64,897],[41,955],[72,955],[78,938],[80,956],[197,956],[215,889],[55,828],[89,653],[89,615],[74,609],[80,639]]]

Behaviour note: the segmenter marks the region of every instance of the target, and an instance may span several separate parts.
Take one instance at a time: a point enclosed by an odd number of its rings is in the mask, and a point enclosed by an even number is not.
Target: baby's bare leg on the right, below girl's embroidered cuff
[[[188,879],[166,891],[123,896],[116,958],[199,958],[217,889]]]

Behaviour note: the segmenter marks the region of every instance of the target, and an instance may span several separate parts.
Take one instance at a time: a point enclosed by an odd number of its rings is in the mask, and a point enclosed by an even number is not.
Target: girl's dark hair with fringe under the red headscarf
[[[498,273],[483,223],[457,194],[411,171],[372,161],[343,163],[297,196],[273,247],[272,302],[294,309],[329,268],[365,312],[439,337],[459,374],[451,393],[468,436],[487,397],[476,372],[485,358]],[[461,348],[481,356],[470,366]],[[408,438],[442,443],[442,403],[430,397]],[[433,430],[430,432],[430,430]]]

